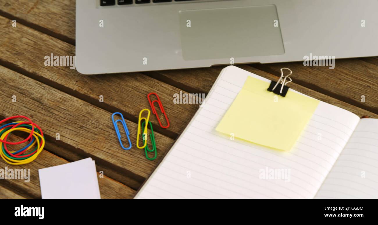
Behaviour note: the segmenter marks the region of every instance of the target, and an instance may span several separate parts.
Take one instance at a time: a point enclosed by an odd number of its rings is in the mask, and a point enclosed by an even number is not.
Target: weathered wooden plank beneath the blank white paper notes
[[[9,141],[20,141],[22,138],[17,136],[9,136]],[[11,180],[1,180],[1,182],[4,182],[3,184],[6,186],[11,187],[12,189],[15,189],[20,194],[12,194],[12,191],[8,190],[6,193],[0,193],[0,198],[8,197],[8,198],[41,198],[41,192],[40,192],[40,185],[39,185],[39,174],[38,170],[50,166],[57,166],[68,163],[67,160],[64,160],[52,153],[50,153],[47,150],[43,150],[36,160],[34,160],[31,163],[25,164],[25,165],[9,165],[7,164],[3,159],[0,159],[0,168],[2,169],[29,169],[30,170],[30,176],[29,179],[26,180],[28,182],[25,182],[25,179],[11,179]],[[97,168],[97,171],[98,170]],[[99,173],[98,173],[99,174]],[[98,177],[99,182],[99,188],[101,193],[102,199],[125,199],[125,198],[132,198],[135,195],[135,190],[132,190],[128,186],[119,183],[113,179],[110,179],[109,177],[105,176],[106,173],[104,173],[104,177]],[[1,188],[1,186],[0,186]],[[6,190],[6,188],[4,188]]]

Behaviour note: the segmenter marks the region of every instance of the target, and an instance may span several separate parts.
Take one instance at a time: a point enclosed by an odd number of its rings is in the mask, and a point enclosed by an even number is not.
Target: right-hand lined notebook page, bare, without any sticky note
[[[378,119],[361,119],[316,198],[378,198]]]

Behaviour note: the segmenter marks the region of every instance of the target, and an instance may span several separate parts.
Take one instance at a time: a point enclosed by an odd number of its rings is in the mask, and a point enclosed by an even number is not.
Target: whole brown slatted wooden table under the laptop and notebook
[[[174,104],[173,95],[207,94],[224,67],[83,76],[67,66],[45,66],[44,57],[51,53],[75,55],[75,1],[0,0],[0,119],[29,116],[46,136],[45,149],[34,162],[12,166],[0,160],[0,168],[31,171],[29,183],[0,180],[1,198],[40,198],[38,169],[87,157],[104,173],[98,179],[102,198],[132,198],[198,109],[195,104]],[[280,68],[291,68],[291,88],[358,116],[378,118],[378,57],[336,60],[335,69],[303,62],[238,66],[274,80]],[[138,114],[149,108],[149,92],[160,95],[171,124],[162,129],[151,116],[158,146],[153,161],[135,147]],[[14,95],[17,102],[12,102]],[[111,121],[114,112],[121,112],[129,126],[130,151],[119,146]]]

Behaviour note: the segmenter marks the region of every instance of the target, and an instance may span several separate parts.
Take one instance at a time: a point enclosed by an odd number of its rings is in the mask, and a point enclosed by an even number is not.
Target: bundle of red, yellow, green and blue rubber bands
[[[8,120],[16,118],[23,118],[28,121],[16,121],[0,126],[0,156],[5,162],[11,165],[22,165],[32,162],[37,158],[45,146],[45,137],[43,136],[42,129],[26,116],[12,116],[3,119],[0,121],[0,125]],[[28,133],[29,136],[20,142],[8,142],[7,138],[13,131],[22,131]],[[16,146],[26,142],[29,143],[17,151],[10,151],[8,149],[8,145]],[[32,149],[33,147],[34,149],[29,151],[29,149]]]

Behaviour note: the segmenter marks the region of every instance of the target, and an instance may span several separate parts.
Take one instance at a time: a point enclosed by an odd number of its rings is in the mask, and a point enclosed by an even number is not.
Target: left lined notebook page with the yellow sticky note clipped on
[[[217,133],[215,127],[247,76],[265,80],[266,87],[269,86],[269,80],[235,66],[223,69],[206,96],[204,106],[197,111],[136,199],[315,196],[359,117],[320,102],[290,151],[230,140],[230,136]],[[290,180],[269,179],[268,176],[262,179],[263,172],[270,169],[290,171]]]

